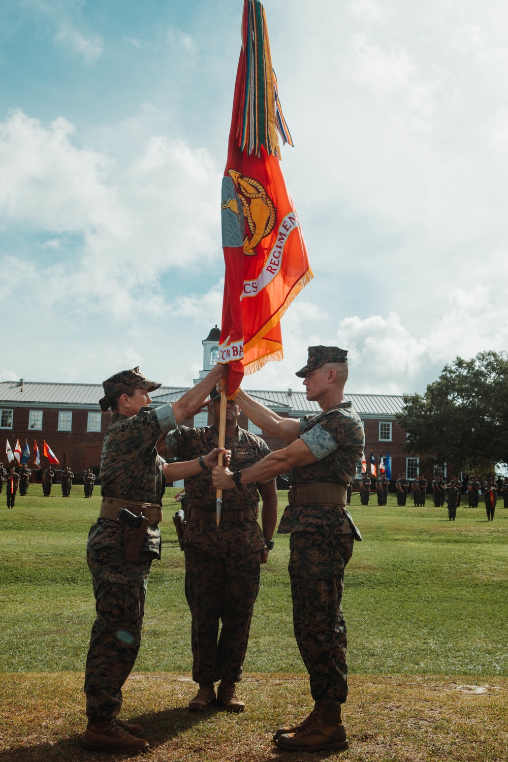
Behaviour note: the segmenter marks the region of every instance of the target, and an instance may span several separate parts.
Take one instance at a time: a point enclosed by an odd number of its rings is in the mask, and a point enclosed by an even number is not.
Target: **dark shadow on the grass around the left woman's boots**
[[[149,741],[150,748],[156,749],[158,746],[171,741],[172,738],[185,733],[187,730],[197,725],[199,722],[208,719],[210,716],[219,712],[214,707],[206,712],[189,712],[187,708],[177,707],[176,709],[163,709],[161,712],[152,712],[129,718],[129,722],[139,722],[144,726],[142,737]],[[84,751],[81,747],[82,735],[72,735],[69,738],[62,738],[54,744],[36,744],[34,746],[23,746],[12,749],[11,751],[0,752],[0,762],[50,762],[50,760],[97,760],[97,751]],[[101,754],[99,752],[98,754]],[[115,752],[114,758],[123,760],[131,759],[132,752]]]

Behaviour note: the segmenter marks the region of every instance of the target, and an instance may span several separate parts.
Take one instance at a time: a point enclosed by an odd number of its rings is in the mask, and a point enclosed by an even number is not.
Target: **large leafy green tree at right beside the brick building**
[[[508,356],[480,352],[446,365],[424,395],[404,395],[397,421],[407,452],[487,474],[508,463]]]

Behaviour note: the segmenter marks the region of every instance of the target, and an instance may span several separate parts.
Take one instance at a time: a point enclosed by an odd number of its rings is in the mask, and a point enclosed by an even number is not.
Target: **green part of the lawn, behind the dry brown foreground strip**
[[[0,509],[0,671],[81,671],[94,601],[85,562],[100,498],[42,498],[38,485]],[[58,495],[59,488],[53,488]],[[136,669],[190,671],[184,555],[165,497],[163,557],[149,581]],[[280,493],[284,505],[286,494]],[[358,501],[353,496],[353,501]],[[395,503],[395,496],[390,496]],[[347,567],[343,608],[353,674],[508,676],[508,510],[351,507],[364,536]],[[245,669],[303,671],[292,635],[289,537],[276,535],[262,569]]]

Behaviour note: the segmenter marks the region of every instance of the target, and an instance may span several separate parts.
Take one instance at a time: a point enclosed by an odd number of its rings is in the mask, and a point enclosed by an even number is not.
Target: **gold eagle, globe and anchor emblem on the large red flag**
[[[263,185],[236,169],[222,178],[222,246],[244,247],[244,254],[257,255],[256,246],[276,223],[276,208]],[[230,212],[230,213],[228,213]],[[245,235],[247,219],[251,237]]]

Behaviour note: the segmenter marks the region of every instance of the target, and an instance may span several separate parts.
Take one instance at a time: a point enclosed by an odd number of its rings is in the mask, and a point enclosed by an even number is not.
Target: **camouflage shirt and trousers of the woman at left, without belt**
[[[174,426],[171,405],[144,407],[131,418],[113,413],[102,448],[102,496],[161,504],[164,460],[155,443]],[[161,557],[161,532],[154,524],[146,530],[137,562],[127,562],[125,526],[121,521],[99,518],[88,534],[87,561],[97,612],[85,669],[90,724],[120,712],[122,686],[139,651],[150,566]]]

